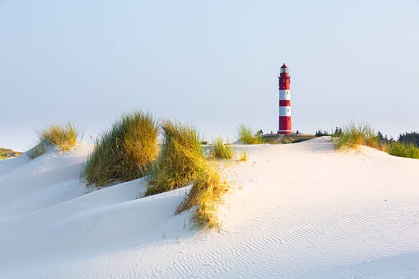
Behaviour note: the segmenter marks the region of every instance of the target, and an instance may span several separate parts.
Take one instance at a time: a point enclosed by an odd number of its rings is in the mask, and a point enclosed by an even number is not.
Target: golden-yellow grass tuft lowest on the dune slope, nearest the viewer
[[[220,180],[220,174],[214,166],[208,166],[199,172],[185,200],[179,204],[176,213],[195,207],[193,220],[198,226],[212,228],[218,225],[216,210],[223,196],[228,190],[225,181]]]

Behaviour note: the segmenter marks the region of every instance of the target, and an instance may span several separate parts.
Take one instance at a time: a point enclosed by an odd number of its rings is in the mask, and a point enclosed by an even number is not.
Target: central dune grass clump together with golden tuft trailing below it
[[[176,213],[194,207],[199,226],[218,224],[216,206],[228,185],[220,180],[216,166],[205,157],[199,133],[190,125],[162,122],[164,142],[160,155],[150,166],[149,187],[144,196],[159,194],[192,183]]]

